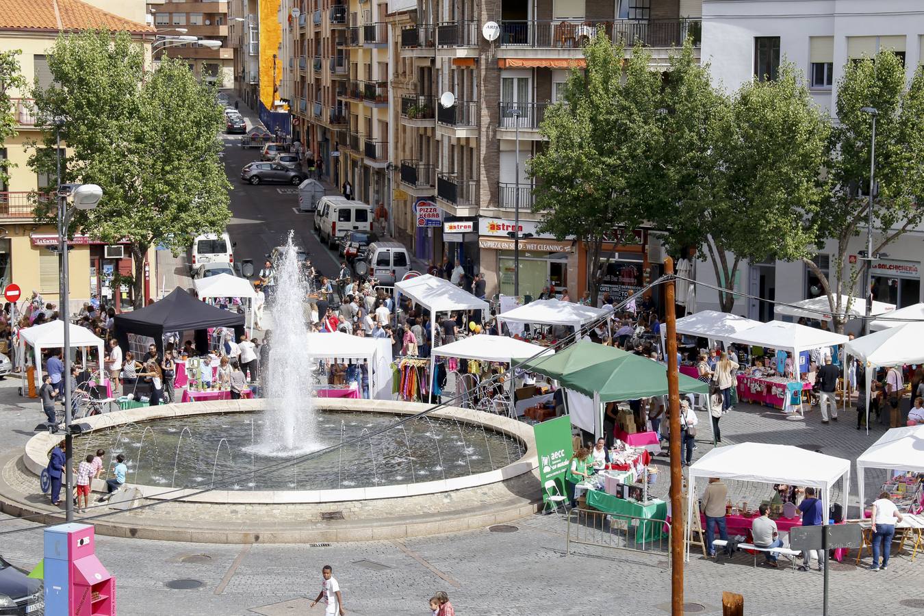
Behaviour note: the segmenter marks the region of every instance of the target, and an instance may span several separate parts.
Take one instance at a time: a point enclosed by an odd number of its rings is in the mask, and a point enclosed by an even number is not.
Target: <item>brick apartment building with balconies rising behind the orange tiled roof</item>
[[[221,47],[214,49],[197,42],[171,44],[158,50],[154,60],[162,55],[182,58],[197,78],[217,83],[219,88],[232,88],[235,83],[235,58],[234,49],[228,42],[229,4],[224,0],[149,0],[148,10],[159,33],[182,33],[222,42]]]

